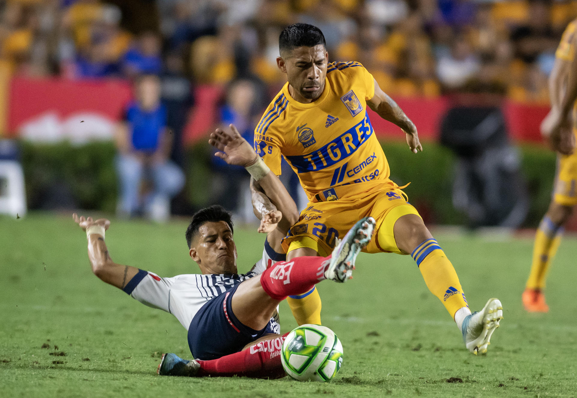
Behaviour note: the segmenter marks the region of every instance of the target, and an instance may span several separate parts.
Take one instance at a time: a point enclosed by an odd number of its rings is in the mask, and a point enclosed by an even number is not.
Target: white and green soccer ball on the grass
[[[301,325],[288,333],[280,361],[295,380],[329,381],[343,365],[343,345],[326,326]]]

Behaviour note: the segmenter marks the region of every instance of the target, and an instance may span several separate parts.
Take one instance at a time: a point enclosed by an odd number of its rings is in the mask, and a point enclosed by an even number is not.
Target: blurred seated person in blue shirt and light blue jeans
[[[117,212],[130,217],[144,211],[151,219],[164,221],[170,216],[170,198],[184,185],[184,175],[168,160],[172,136],[166,129],[166,108],[160,103],[159,78],[141,76],[135,91],[136,101],[129,104],[116,133]],[[143,187],[145,181],[151,186]]]

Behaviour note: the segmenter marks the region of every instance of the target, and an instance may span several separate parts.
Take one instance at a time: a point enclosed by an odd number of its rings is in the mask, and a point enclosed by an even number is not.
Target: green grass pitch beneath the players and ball
[[[185,221],[115,221],[106,241],[116,262],[173,276],[198,272]],[[92,275],[72,216],[0,218],[1,397],[572,397],[577,396],[577,241],[561,244],[548,281],[549,314],[527,314],[520,295],[533,241],[439,234],[472,309],[500,298],[504,320],[486,355],[465,350],[443,305],[409,256],[361,254],[354,279],[325,281],[323,323],[344,362],[328,384],[156,375],[160,354],[190,357],[186,331]],[[264,236],[239,229],[239,271]],[[296,326],[281,305],[283,332]],[[42,348],[42,347],[47,348]]]

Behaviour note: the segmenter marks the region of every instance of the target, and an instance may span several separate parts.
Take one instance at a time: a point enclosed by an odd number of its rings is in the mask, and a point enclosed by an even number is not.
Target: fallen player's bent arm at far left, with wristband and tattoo
[[[110,227],[107,219],[92,220],[92,217],[78,217],[72,215],[74,222],[83,231],[87,232],[88,258],[92,265],[92,272],[102,281],[122,289],[138,273],[138,268],[128,265],[116,264],[110,258],[106,243],[104,243],[104,231]]]

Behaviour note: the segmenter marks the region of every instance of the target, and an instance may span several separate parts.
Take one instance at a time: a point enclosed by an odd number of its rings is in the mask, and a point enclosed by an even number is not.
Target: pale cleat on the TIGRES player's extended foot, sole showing
[[[489,346],[491,335],[499,328],[499,322],[503,319],[503,305],[492,298],[485,304],[481,311],[476,311],[467,316],[461,325],[463,341],[467,350],[477,355],[477,352],[485,354]]]

